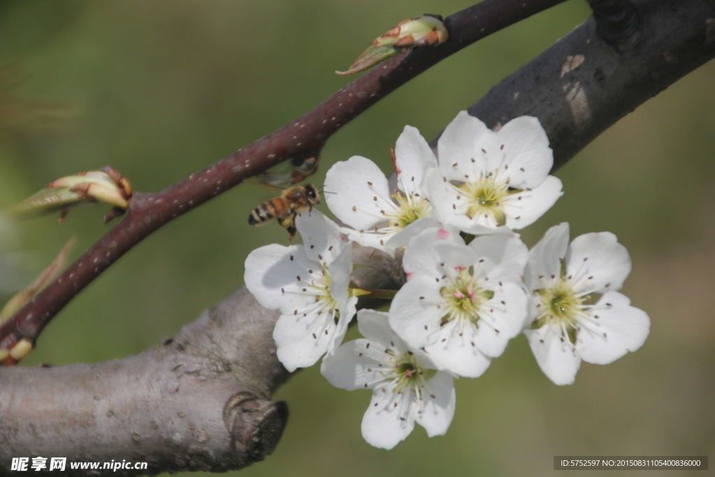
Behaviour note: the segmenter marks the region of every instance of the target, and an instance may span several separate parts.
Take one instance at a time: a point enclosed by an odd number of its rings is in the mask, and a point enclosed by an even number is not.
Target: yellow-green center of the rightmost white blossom
[[[545,323],[555,320],[559,328],[566,330],[571,343],[576,343],[576,328],[579,313],[583,313],[583,302],[588,297],[581,297],[573,290],[571,282],[561,278],[551,287],[536,290],[541,305],[538,317],[531,324],[531,329],[541,328]]]

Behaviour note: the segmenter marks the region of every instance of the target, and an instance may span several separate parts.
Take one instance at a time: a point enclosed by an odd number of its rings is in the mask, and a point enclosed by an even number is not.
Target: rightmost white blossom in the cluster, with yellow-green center
[[[628,251],[611,232],[580,235],[568,245],[564,222],[533,247],[524,274],[533,292],[532,323],[524,333],[554,383],[573,383],[581,360],[608,364],[643,345],[651,320],[616,291],[630,272]]]

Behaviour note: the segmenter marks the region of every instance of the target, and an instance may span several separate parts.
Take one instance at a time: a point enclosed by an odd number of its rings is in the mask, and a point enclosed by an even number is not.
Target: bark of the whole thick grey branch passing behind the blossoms
[[[614,47],[588,19],[494,87],[470,114],[490,127],[537,116],[556,168],[715,56],[713,0],[631,5],[638,15],[631,46]],[[375,265],[358,269],[358,285],[400,280],[398,262],[356,253],[356,263]],[[149,461],[151,473],[223,471],[259,461],[277,443],[287,415],[284,405],[270,403],[287,378],[275,358],[276,318],[242,288],[141,355],[99,365],[1,369],[0,466],[38,450],[69,461]]]

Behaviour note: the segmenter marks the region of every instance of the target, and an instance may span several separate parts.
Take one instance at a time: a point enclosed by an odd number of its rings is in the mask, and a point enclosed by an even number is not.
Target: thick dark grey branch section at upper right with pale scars
[[[715,1],[630,3],[638,15],[635,44],[615,49],[591,17],[493,87],[469,113],[492,128],[525,114],[538,117],[558,169],[618,119],[715,56]]]

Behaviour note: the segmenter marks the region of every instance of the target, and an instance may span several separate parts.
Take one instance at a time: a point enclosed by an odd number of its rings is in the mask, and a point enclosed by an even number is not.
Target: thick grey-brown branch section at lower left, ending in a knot
[[[270,339],[276,318],[241,288],[140,355],[3,368],[0,474],[21,456],[147,461],[152,473],[262,460],[287,418],[269,400],[287,378]]]

